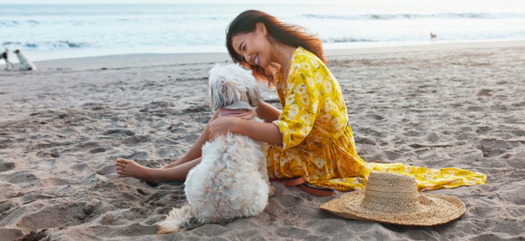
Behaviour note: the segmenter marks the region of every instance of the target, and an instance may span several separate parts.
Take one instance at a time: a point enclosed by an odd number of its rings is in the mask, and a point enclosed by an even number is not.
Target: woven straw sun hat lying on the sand
[[[321,209],[349,219],[411,226],[444,224],[466,211],[455,197],[418,192],[414,177],[379,171],[370,173],[364,190],[345,193]]]

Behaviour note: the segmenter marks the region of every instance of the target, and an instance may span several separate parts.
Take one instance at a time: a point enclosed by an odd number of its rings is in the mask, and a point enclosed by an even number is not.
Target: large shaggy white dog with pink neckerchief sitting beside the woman
[[[210,106],[220,116],[255,117],[260,101],[251,71],[231,64],[209,71]],[[173,209],[159,224],[159,234],[175,233],[182,226],[229,222],[254,216],[268,204],[270,189],[264,143],[228,133],[202,147],[202,159],[186,177],[184,192],[188,204]]]

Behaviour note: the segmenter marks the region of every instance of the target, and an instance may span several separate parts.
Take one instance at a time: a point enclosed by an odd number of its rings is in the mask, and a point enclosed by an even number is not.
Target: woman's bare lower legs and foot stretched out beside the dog
[[[218,112],[216,111],[209,119],[208,124],[217,116]],[[117,158],[115,160],[117,174],[121,177],[137,177],[151,182],[185,180],[188,171],[201,162],[202,146],[209,140],[208,124],[190,150],[175,162],[162,168],[149,168],[141,166],[133,160]]]

